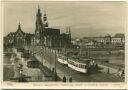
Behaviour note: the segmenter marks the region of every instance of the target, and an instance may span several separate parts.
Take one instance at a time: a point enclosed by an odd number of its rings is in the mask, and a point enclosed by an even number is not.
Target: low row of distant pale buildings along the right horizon
[[[112,47],[112,46],[120,46],[124,47],[125,37],[123,34],[116,34],[114,37],[111,37],[107,34],[104,37],[84,37],[82,39],[82,44],[86,47]]]

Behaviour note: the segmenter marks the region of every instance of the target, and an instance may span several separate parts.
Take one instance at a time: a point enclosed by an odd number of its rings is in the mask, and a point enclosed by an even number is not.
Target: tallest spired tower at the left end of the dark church
[[[38,11],[36,13],[36,30],[35,30],[35,40],[38,45],[43,45],[43,35],[44,25],[42,22],[42,13],[40,7],[38,6]]]

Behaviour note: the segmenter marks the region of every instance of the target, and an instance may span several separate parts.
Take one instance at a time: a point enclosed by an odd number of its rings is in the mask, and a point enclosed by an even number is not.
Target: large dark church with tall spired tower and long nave
[[[46,47],[69,47],[71,44],[71,32],[60,34],[60,29],[49,28],[46,13],[43,16],[40,8],[36,14],[35,43]]]

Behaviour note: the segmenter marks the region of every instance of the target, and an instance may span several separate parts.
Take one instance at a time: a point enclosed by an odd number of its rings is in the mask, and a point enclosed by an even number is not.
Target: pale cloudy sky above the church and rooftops
[[[71,28],[73,37],[97,37],[125,33],[125,2],[5,2],[4,36],[17,30],[34,33],[36,13],[40,6],[46,12],[49,27]]]

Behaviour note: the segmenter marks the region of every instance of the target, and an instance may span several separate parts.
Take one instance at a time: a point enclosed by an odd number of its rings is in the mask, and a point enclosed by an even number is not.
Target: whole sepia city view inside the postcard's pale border
[[[126,2],[3,2],[3,16],[3,82],[125,82]]]

